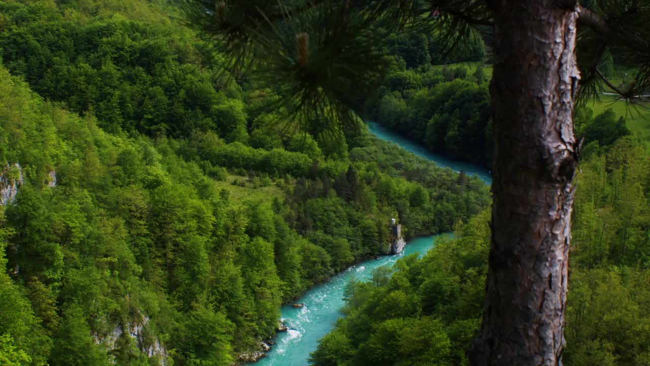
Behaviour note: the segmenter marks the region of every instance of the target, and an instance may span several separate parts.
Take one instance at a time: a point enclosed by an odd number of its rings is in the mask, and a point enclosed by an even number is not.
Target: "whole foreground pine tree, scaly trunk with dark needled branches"
[[[474,365],[560,365],[580,143],[573,107],[607,85],[635,100],[650,85],[650,1],[185,0],[190,23],[233,52],[233,69],[281,89],[287,115],[345,127],[385,71],[386,33],[437,29],[448,48],[494,33],[491,250]],[[578,27],[578,18],[582,19]],[[643,21],[645,19],[645,21]],[[576,45],[580,44],[580,59]],[[621,48],[622,46],[622,48]],[[609,49],[639,68],[619,90],[599,72]],[[578,61],[583,71],[582,82]]]

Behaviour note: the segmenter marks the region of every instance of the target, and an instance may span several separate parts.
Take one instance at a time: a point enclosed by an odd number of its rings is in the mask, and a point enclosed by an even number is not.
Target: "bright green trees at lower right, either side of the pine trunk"
[[[642,141],[592,143],[573,212],[565,365],[650,363],[650,160]],[[352,282],[316,366],[469,365],[482,317],[489,211],[422,259]]]

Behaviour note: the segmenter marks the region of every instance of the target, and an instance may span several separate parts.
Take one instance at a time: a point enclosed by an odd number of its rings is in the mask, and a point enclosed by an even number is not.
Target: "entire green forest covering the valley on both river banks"
[[[0,1],[0,364],[231,365],[281,305],[386,253],[396,218],[456,236],[351,283],[311,361],[467,365],[488,188],[361,119],[279,124],[280,91],[224,71],[232,55],[180,18],[163,0]],[[489,165],[489,47],[436,39],[387,37],[364,117]],[[578,108],[575,128],[565,364],[648,365],[647,141],[610,110]]]

